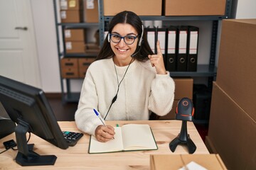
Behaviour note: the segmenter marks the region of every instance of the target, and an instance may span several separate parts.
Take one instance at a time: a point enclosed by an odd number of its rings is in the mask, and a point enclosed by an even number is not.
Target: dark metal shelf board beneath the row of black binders
[[[217,67],[210,68],[207,64],[198,64],[197,72],[170,72],[171,77],[215,77]]]

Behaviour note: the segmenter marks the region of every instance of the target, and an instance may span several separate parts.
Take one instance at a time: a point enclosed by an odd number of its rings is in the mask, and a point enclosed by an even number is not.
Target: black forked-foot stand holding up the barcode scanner
[[[174,138],[174,140],[170,142],[169,147],[171,149],[171,152],[175,151],[177,145],[186,145],[188,147],[189,154],[193,154],[193,152],[196,151],[196,145],[193,143],[193,141],[188,135],[186,123],[187,121],[182,121],[181,132],[178,134],[176,138]]]

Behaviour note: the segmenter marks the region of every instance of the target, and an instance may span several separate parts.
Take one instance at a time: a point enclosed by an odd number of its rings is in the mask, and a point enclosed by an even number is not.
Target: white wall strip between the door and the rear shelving
[[[41,86],[46,92],[60,92],[60,69],[53,0],[31,0],[38,47]]]

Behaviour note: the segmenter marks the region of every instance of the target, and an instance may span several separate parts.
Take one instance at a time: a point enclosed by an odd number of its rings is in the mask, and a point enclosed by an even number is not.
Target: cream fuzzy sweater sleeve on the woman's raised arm
[[[169,113],[174,103],[174,90],[174,80],[169,72],[164,75],[156,74],[151,82],[149,110],[160,116]]]

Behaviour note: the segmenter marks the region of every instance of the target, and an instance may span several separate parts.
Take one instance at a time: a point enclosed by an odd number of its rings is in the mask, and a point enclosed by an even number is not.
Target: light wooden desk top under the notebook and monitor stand
[[[75,122],[58,122],[61,130],[78,132]],[[29,143],[34,143],[38,154],[55,154],[58,158],[54,166],[20,166],[16,164],[17,151],[9,149],[0,154],[0,169],[149,169],[150,154],[188,154],[188,149],[178,145],[173,153],[169,142],[178,135],[182,121],[179,120],[140,120],[140,121],[107,121],[108,125],[122,126],[127,123],[149,124],[159,147],[157,150],[136,152],[115,152],[105,154],[88,154],[90,135],[84,135],[74,147],[59,149],[54,145],[31,134]],[[193,123],[188,122],[188,134],[197,149],[194,154],[209,154]],[[15,140],[14,133],[0,140],[0,152],[4,150],[3,142]]]

